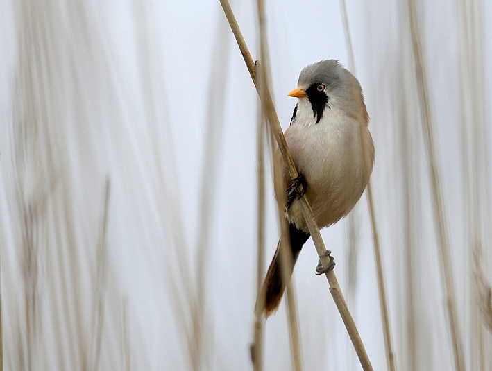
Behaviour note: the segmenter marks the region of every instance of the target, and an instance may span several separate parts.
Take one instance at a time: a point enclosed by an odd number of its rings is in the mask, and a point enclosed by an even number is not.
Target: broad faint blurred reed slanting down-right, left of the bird
[[[151,123],[151,138],[154,159],[156,162],[156,170],[160,187],[162,189],[173,189],[173,195],[169,196],[167,191],[158,191],[162,197],[159,202],[159,218],[161,225],[170,225],[169,231],[175,248],[176,264],[173,268],[178,271],[178,277],[174,277],[174,270],[169,270],[171,273],[171,296],[173,304],[176,308],[175,315],[180,329],[180,340],[183,341],[190,364],[196,364],[197,352],[195,351],[194,329],[190,323],[192,313],[196,313],[196,289],[192,281],[193,272],[192,266],[189,264],[187,257],[187,242],[185,241],[185,232],[183,229],[183,215],[179,205],[180,196],[179,188],[176,184],[176,176],[178,173],[176,168],[177,160],[174,150],[174,144],[171,141],[171,136],[160,132],[161,128],[169,130],[169,118],[167,112],[167,102],[160,100],[164,92],[161,90],[162,85],[155,81],[163,81],[162,64],[164,61],[158,53],[155,53],[158,48],[158,42],[152,42],[152,36],[155,37],[155,25],[153,24],[152,16],[153,9],[149,7],[146,1],[133,0],[133,10],[135,12],[135,32],[137,33],[137,58],[139,58],[139,74],[142,76],[142,92],[144,92],[144,114],[145,121]],[[217,53],[214,53],[216,55]],[[158,76],[157,79],[153,76]],[[162,148],[166,148],[165,155],[162,154]],[[176,195],[177,193],[177,195]],[[168,210],[172,210],[172,218],[164,216]]]

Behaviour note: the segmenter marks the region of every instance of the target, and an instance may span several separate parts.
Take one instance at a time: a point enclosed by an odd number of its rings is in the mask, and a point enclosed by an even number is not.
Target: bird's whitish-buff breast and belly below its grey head
[[[367,126],[328,107],[316,123],[307,98],[299,99],[296,119],[285,139],[298,172],[305,176],[306,196],[319,227],[336,223],[354,207],[371,175],[374,146]],[[290,183],[287,174],[285,182]],[[277,196],[279,201],[285,199]],[[291,222],[307,232],[297,202],[288,214]]]

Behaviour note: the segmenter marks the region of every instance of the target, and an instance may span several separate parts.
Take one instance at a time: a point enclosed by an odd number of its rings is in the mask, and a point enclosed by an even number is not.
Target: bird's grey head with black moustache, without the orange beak
[[[359,81],[337,60],[321,60],[305,67],[298,88],[309,98],[316,123],[327,109],[339,109],[357,121],[368,122]]]

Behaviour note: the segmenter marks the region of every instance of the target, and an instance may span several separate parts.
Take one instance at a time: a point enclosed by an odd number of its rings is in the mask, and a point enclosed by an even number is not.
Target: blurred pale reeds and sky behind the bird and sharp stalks
[[[256,3],[231,6],[259,59]],[[284,129],[300,70],[353,68],[353,54],[396,370],[491,370],[492,4],[267,1],[265,17]],[[251,370],[265,130],[219,1],[3,1],[0,19],[4,369]],[[270,261],[280,228],[264,155]],[[366,196],[322,234],[384,370]],[[312,242],[303,250],[303,370],[360,370]],[[291,369],[285,304],[264,336],[262,368]]]

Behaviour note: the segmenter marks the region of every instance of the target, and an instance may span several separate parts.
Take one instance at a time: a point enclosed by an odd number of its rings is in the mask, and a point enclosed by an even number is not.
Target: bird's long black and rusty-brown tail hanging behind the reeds
[[[289,225],[291,251],[292,251],[292,269],[289,272],[291,277],[294,270],[294,264],[296,264],[297,257],[299,256],[300,249],[303,248],[304,243],[309,239],[309,233],[305,233],[302,230],[298,230],[294,224]],[[260,295],[264,295],[264,307],[262,312],[265,317],[275,312],[280,305],[282,295],[285,290],[285,283],[282,282],[282,260],[280,257],[280,241],[277,245],[277,250],[271,261],[270,268],[266,273],[265,280],[263,282],[262,291]],[[257,300],[258,305],[259,300]]]

